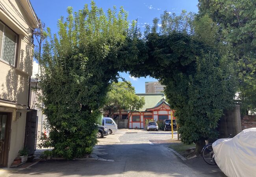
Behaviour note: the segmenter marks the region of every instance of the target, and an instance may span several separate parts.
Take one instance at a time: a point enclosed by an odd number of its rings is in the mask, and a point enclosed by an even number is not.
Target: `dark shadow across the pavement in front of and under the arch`
[[[96,146],[104,152],[100,160],[42,160],[31,168],[11,175],[20,176],[173,176],[173,177],[223,177],[217,166],[202,164],[201,158],[182,161],[167,146],[169,143],[111,144]],[[100,153],[99,153],[100,154]]]

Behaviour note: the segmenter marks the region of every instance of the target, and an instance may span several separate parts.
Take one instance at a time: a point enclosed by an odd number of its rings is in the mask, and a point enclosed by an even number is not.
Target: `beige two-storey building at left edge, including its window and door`
[[[38,24],[29,0],[0,1],[0,166],[10,167],[24,146]]]

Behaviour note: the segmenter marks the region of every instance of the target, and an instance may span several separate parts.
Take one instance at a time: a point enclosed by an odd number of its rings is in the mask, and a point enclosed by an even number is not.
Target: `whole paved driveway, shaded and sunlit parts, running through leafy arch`
[[[200,170],[184,163],[168,148],[170,132],[121,129],[99,140],[94,159],[46,160],[15,176],[223,176],[215,166]],[[174,134],[176,138],[176,133]],[[97,159],[97,160],[95,160]]]

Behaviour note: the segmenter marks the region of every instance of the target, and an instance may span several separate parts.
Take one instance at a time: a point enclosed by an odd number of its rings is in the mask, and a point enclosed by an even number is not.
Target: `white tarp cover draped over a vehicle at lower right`
[[[212,144],[215,161],[228,177],[256,177],[256,128]]]

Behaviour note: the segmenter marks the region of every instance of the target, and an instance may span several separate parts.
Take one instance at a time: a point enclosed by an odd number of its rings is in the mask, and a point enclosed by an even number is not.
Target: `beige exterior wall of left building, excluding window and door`
[[[20,4],[22,2],[22,4]],[[26,108],[28,103],[29,76],[32,75],[33,43],[32,31],[36,28],[37,21],[30,12],[27,1],[0,1],[0,20],[18,35],[15,66],[8,65],[0,60],[0,111],[11,112],[11,137],[8,155],[8,167],[17,157],[24,146],[26,125]],[[28,14],[32,15],[28,17]],[[6,103],[7,100],[9,103]],[[15,120],[16,112],[21,112],[21,117]]]

